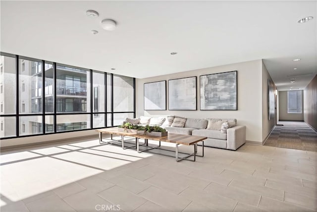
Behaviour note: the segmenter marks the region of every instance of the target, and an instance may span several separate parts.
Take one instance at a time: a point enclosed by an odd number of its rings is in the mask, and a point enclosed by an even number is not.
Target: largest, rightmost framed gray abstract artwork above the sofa
[[[200,76],[201,110],[237,110],[237,71]]]

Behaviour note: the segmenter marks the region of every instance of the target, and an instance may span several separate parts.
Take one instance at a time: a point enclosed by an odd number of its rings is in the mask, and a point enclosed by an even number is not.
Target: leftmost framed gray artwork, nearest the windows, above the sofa
[[[144,83],[144,110],[166,110],[166,81]]]

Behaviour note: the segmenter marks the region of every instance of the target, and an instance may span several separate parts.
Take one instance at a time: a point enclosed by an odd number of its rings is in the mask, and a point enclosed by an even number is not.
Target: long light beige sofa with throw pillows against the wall
[[[199,119],[170,115],[159,117],[140,116],[140,118],[135,119],[127,118],[125,122],[134,122],[133,124],[140,125],[159,125],[169,133],[205,136],[208,139],[204,141],[204,145],[208,147],[237,150],[246,143],[246,127],[236,125],[236,119]]]

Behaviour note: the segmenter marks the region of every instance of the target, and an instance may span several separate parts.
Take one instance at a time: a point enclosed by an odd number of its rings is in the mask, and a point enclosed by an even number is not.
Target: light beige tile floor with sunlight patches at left
[[[1,212],[317,211],[316,152],[245,144],[176,162],[90,139],[1,152],[0,162]]]

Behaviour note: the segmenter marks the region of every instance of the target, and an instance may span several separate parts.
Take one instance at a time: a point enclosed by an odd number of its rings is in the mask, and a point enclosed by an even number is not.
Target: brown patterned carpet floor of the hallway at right
[[[305,122],[279,121],[265,146],[317,152],[317,133]]]

